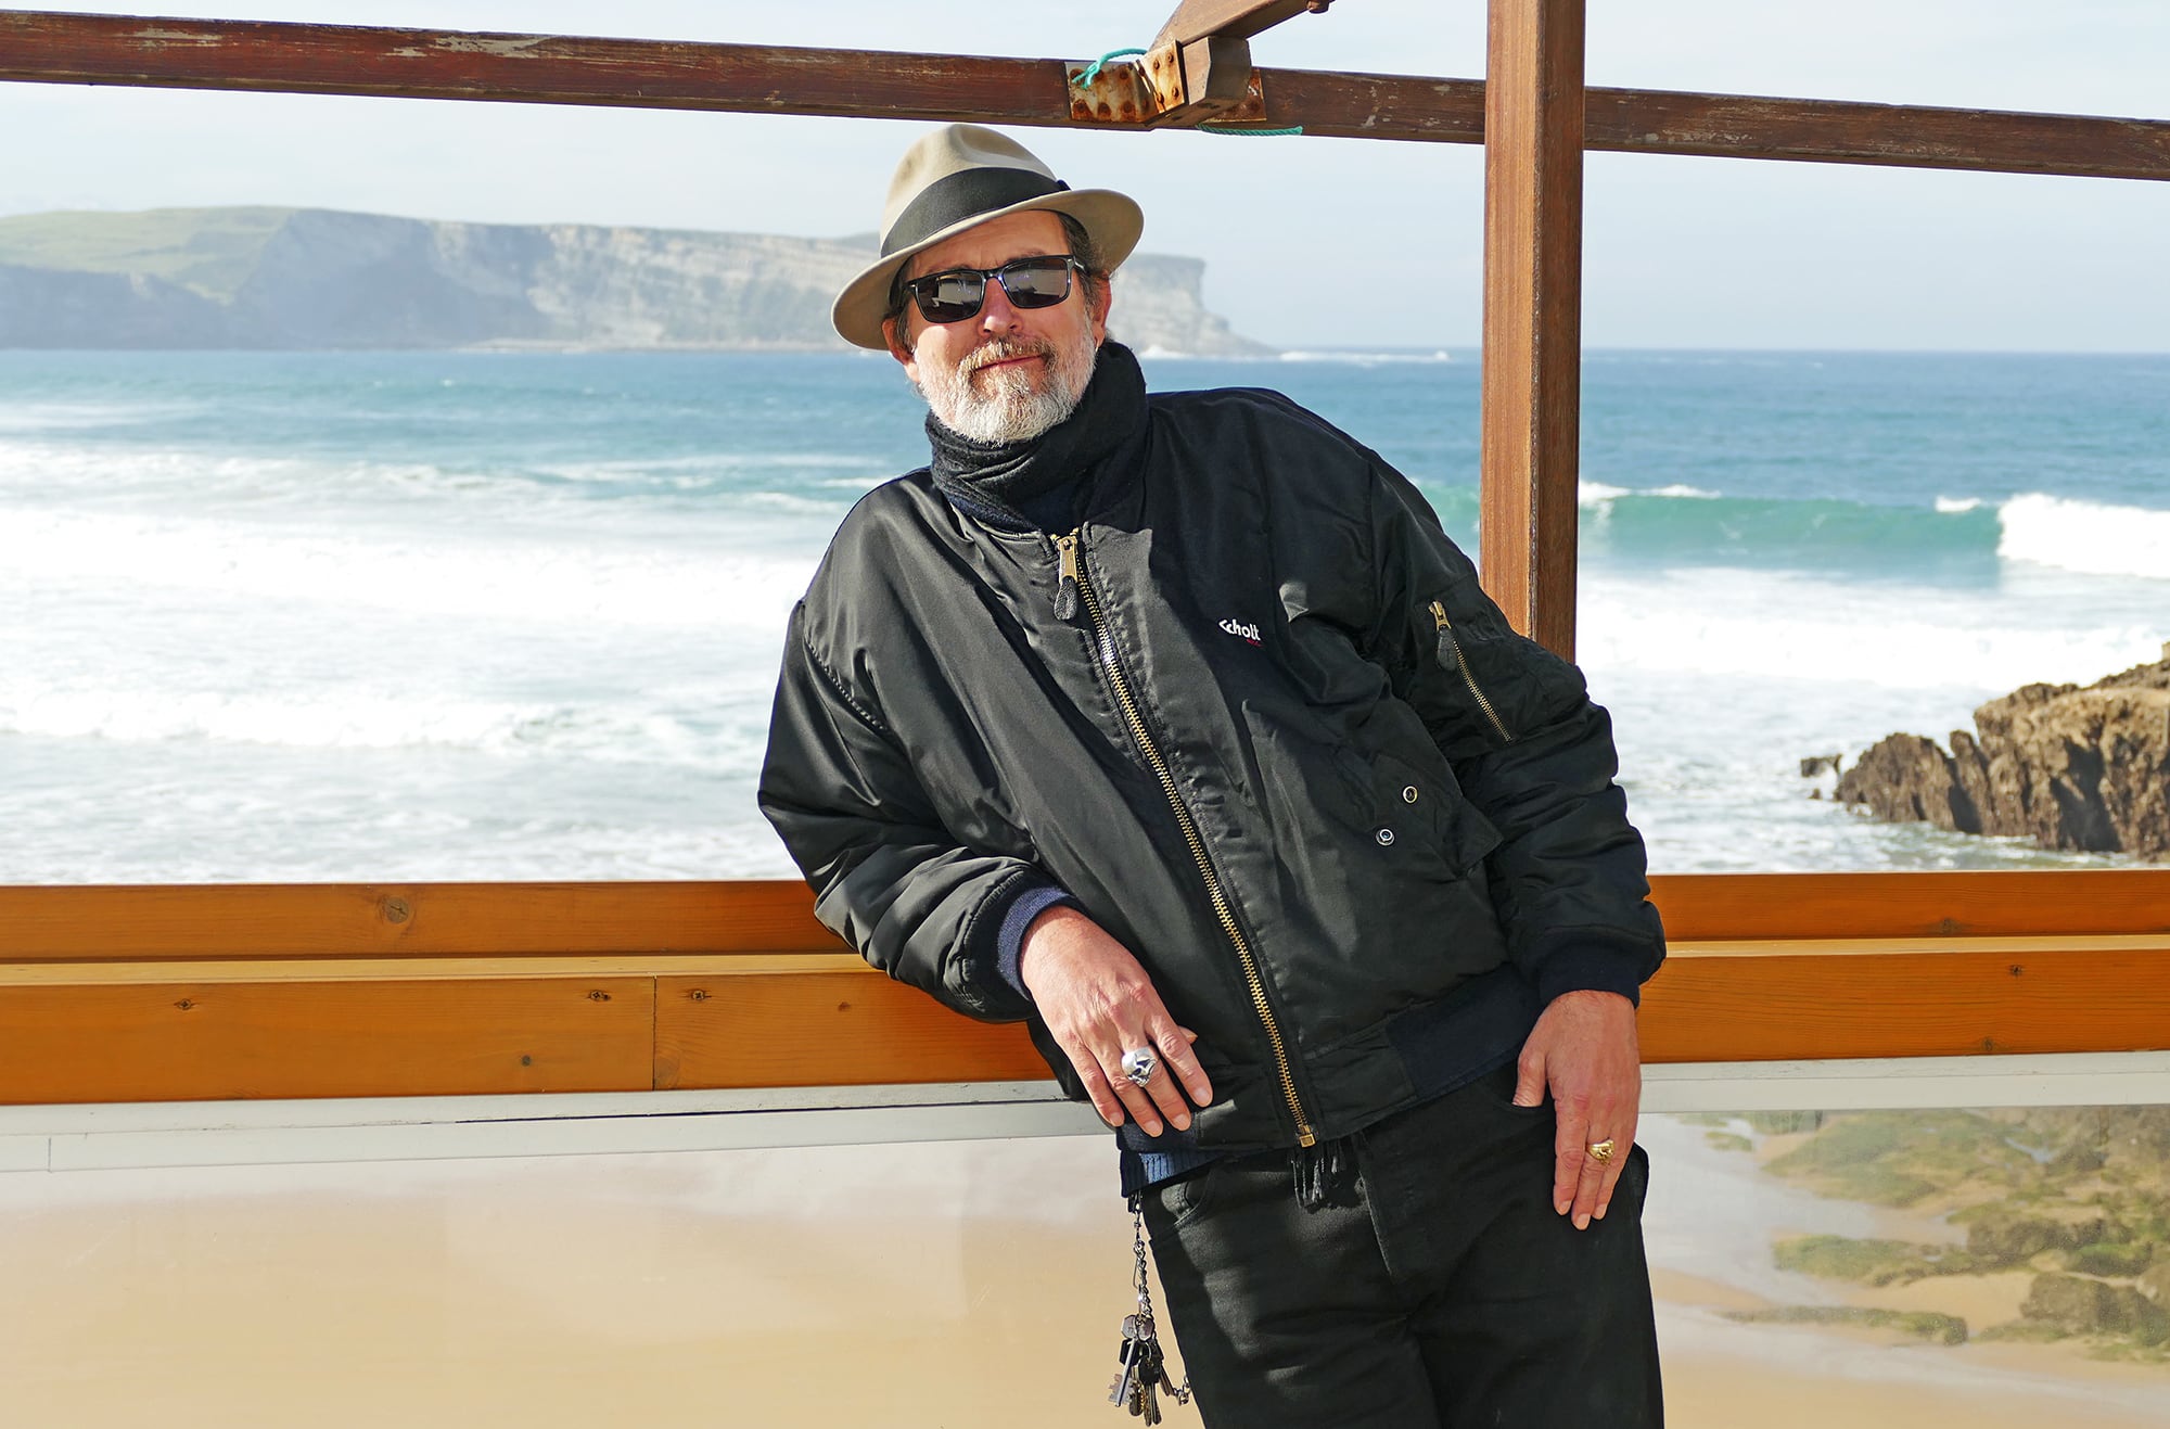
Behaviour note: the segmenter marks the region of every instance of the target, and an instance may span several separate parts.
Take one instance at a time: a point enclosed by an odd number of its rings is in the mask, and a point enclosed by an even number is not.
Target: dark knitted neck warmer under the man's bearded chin
[[[961,437],[929,413],[935,489],[966,515],[1003,530],[1068,532],[1105,463],[1146,421],[1146,374],[1118,341],[1100,343],[1074,413],[1029,441]]]

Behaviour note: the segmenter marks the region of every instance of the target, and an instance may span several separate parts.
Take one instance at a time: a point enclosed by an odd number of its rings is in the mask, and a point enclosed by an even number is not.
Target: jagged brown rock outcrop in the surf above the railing
[[[2029,684],[1975,710],[1951,754],[1892,734],[1838,780],[1886,821],[2027,836],[2044,849],[2170,856],[2170,647],[2085,688]]]

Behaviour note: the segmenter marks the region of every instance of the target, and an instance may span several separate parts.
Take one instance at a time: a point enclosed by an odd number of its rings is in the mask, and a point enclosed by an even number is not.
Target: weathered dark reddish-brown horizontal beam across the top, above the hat
[[[0,11],[0,80],[1096,126],[1061,59]],[[1484,141],[1484,83],[1263,69],[1269,126]],[[2170,180],[2170,122],[1591,89],[1584,146],[1630,154]]]

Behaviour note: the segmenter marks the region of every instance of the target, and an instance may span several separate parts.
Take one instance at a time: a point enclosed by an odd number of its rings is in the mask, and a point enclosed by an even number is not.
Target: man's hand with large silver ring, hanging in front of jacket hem
[[[1213,1084],[1191,1053],[1198,1034],[1176,1027],[1131,949],[1076,908],[1063,903],[1033,919],[1018,977],[1107,1125],[1120,1127],[1128,1110],[1146,1136],[1161,1134],[1161,1116],[1187,1131],[1191,1105],[1213,1101]],[[1152,1047],[1165,1068],[1144,1088],[1122,1075],[1122,1053],[1135,1047]]]

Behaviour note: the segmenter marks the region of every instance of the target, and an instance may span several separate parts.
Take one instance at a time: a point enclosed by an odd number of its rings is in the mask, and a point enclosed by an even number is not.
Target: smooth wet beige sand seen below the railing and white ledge
[[[1725,1320],[1771,1286],[1708,1253],[1753,1231],[1766,1266],[1799,1203],[1686,1131],[1649,1136],[1684,1142],[1651,1207],[1675,1429],[2170,1422],[2159,1368]],[[1109,1429],[1128,1229],[1096,1138],[9,1173],[0,1422]]]

